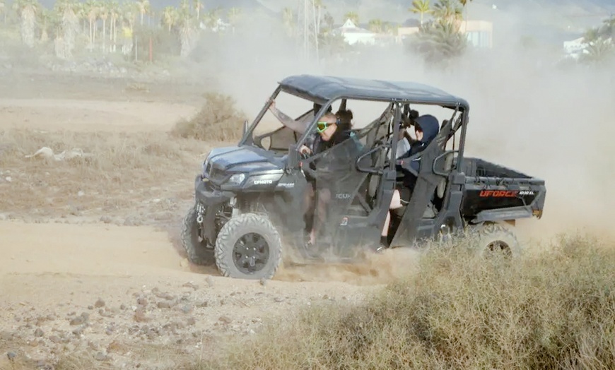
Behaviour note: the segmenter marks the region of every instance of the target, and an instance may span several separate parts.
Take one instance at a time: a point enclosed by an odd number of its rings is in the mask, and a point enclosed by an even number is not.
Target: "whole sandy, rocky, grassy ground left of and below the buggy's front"
[[[382,256],[259,282],[190,264],[180,223],[219,143],[166,132],[206,87],[131,81],[0,76],[0,369],[172,369],[409,269],[412,256]],[[90,162],[66,159],[76,147]]]

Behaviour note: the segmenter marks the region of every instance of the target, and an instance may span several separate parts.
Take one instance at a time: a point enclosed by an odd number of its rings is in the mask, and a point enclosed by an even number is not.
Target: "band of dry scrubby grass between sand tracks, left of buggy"
[[[11,177],[11,182],[0,178],[0,209],[46,215],[77,202],[88,210],[118,204],[130,208],[139,194],[158,198],[172,184],[183,182],[190,191],[201,154],[208,150],[204,146],[163,132],[0,131],[0,173]],[[88,156],[61,161],[25,157],[42,147],[54,154],[78,148]],[[77,198],[80,192],[84,196]]]

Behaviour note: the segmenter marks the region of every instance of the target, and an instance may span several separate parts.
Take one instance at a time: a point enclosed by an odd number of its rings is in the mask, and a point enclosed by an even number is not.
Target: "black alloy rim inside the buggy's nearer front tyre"
[[[269,261],[269,244],[261,234],[250,232],[233,246],[233,262],[245,274],[256,273]]]

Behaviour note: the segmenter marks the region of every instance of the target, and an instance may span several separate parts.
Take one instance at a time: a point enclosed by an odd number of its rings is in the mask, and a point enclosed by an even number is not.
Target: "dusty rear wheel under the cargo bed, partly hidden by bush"
[[[521,244],[509,227],[487,224],[476,229],[476,232],[476,253],[481,257],[517,258],[522,253]]]

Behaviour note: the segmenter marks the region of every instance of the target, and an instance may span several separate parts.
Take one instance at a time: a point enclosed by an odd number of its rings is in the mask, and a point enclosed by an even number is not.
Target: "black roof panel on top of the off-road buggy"
[[[340,98],[416,102],[467,110],[466,100],[430,85],[410,81],[295,75],[279,83],[286,93],[324,104]]]

